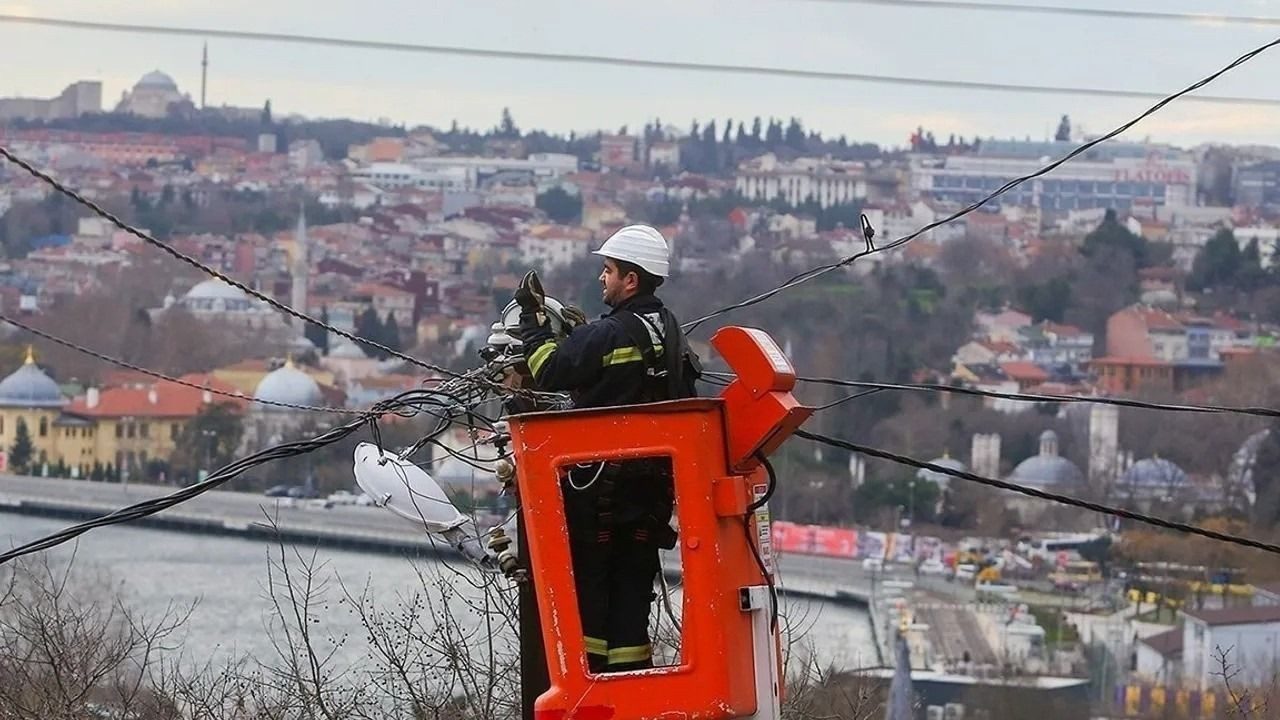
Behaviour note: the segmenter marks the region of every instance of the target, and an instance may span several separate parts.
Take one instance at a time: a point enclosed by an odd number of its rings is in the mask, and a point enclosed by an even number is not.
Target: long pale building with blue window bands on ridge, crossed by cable
[[[972,155],[914,155],[911,190],[968,205],[1074,149],[1075,143],[1066,141],[984,140]],[[1110,142],[1018,186],[996,202],[1050,213],[1194,205],[1196,160],[1190,152],[1164,145]]]

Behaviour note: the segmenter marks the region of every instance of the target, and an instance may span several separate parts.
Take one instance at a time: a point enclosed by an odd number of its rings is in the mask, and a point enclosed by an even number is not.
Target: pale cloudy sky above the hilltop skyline
[[[1005,1],[1005,0],[1001,0]],[[1025,0],[1107,8],[1110,3]],[[1126,8],[1280,17],[1280,0],[1133,0]],[[1277,26],[964,12],[817,0],[0,0],[0,14],[195,26],[543,53],[584,53],[943,79],[1172,92],[1276,36]],[[102,82],[104,105],[159,69],[200,96],[201,40],[0,22],[0,96]],[[800,118],[850,141],[1052,135],[1069,114],[1102,133],[1149,100],[1046,96],[700,72],[474,59],[216,38],[209,104],[279,115],[448,127],[635,129],[660,119]],[[1280,47],[1204,90],[1280,99]],[[1181,146],[1280,145],[1280,106],[1179,102],[1126,136]]]

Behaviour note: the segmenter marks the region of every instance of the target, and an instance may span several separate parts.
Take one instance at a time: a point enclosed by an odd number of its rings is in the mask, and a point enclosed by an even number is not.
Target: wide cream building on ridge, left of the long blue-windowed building
[[[831,158],[778,160],[765,152],[740,164],[733,187],[749,200],[781,199],[790,205],[814,201],[823,208],[858,202],[867,197],[867,165]]]

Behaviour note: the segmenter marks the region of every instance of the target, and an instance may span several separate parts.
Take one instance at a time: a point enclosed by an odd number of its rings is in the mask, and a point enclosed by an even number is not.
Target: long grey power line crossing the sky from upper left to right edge
[[[1007,83],[1007,82],[991,82],[991,81],[938,79],[938,78],[888,76],[888,74],[874,74],[874,73],[850,73],[841,70],[785,68],[776,65],[691,63],[681,60],[653,60],[645,58],[593,55],[582,53],[541,53],[531,50],[499,50],[492,47],[470,47],[461,45],[390,42],[381,40],[357,40],[348,37],[298,35],[287,32],[253,32],[253,31],[200,28],[200,27],[105,23],[93,20],[70,20],[64,18],[37,18],[37,17],[24,17],[13,14],[0,14],[0,22],[24,23],[24,24],[35,24],[45,27],[72,28],[72,29],[106,31],[106,32],[187,36],[187,37],[202,37],[202,38],[221,37],[228,40],[292,42],[298,45],[321,45],[328,47],[349,47],[360,50],[428,53],[434,55],[454,55],[462,58],[525,60],[525,61],[580,64],[580,65],[612,65],[621,68],[649,68],[649,69],[662,69],[662,70],[685,70],[685,72],[717,73],[717,74],[771,76],[771,77],[782,77],[791,79],[869,82],[869,83],[902,85],[902,86],[916,86],[916,87],[943,87],[952,90],[1030,92],[1041,95],[1074,95],[1074,96],[1091,96],[1091,97],[1129,97],[1139,100],[1152,100],[1164,97],[1164,94],[1160,92],[1125,90],[1125,88],[1071,87],[1071,86],[1055,86],[1055,85],[1023,85],[1023,83]],[[1280,99],[1274,99],[1274,97],[1201,95],[1190,97],[1190,100],[1196,100],[1199,102],[1219,102],[1230,105],[1280,105]]]

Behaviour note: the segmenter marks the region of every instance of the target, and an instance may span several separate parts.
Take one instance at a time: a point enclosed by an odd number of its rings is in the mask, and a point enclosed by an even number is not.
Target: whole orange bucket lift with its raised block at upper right
[[[780,716],[767,511],[753,502],[765,488],[762,459],[812,410],[791,395],[795,370],[763,331],[722,328],[712,345],[737,375],[719,397],[508,418],[550,678],[538,720]],[[593,674],[559,478],[576,462],[640,457],[672,466],[684,570],[678,662]]]

